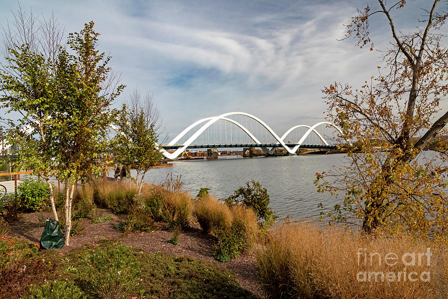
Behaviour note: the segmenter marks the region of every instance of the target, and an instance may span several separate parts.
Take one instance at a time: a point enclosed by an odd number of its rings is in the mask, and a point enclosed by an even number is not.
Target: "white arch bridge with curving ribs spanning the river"
[[[336,149],[336,145],[330,145],[321,134],[322,127],[333,129],[333,134],[342,134],[335,124],[320,122],[313,126],[294,126],[280,137],[266,123],[251,114],[229,112],[191,124],[168,144],[160,145],[160,150],[168,159],[176,159],[186,149],[252,147],[261,148],[267,154],[272,153],[275,148],[286,149],[289,154],[296,154],[301,148]]]

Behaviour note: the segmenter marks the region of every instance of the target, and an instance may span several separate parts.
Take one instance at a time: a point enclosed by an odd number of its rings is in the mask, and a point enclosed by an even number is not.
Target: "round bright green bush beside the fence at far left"
[[[50,195],[50,189],[46,182],[38,179],[25,179],[17,186],[20,199],[19,209],[23,211],[37,211]]]

